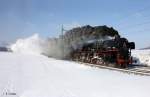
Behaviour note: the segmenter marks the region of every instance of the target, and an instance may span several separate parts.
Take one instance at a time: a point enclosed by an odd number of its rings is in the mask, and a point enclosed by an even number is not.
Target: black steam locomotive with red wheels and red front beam
[[[135,49],[134,42],[116,36],[115,39],[84,43],[80,48],[71,52],[71,59],[98,65],[127,68],[129,64],[133,63],[132,49]]]

